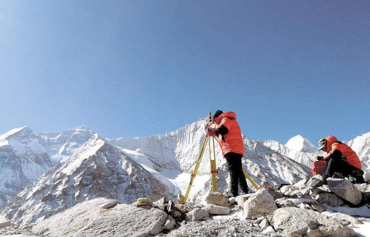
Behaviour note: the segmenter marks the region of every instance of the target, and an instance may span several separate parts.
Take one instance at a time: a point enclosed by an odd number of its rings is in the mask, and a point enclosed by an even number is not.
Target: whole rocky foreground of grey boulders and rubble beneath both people
[[[0,221],[13,237],[355,237],[370,228],[370,184],[353,185],[316,175],[294,185],[272,186],[228,199],[211,192],[206,205],[162,198],[136,203],[97,198],[28,225]],[[347,215],[348,213],[350,215]],[[365,223],[365,224],[364,224]],[[358,233],[362,235],[358,235]]]

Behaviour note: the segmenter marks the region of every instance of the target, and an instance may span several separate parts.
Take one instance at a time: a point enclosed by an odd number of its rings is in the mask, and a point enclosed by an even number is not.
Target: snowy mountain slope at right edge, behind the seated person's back
[[[358,136],[350,141],[343,142],[357,153],[363,164],[363,170],[370,172],[370,132]]]

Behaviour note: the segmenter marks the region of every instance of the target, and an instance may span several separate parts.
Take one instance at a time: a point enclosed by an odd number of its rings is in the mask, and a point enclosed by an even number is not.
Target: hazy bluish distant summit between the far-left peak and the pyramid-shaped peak
[[[85,125],[75,130],[36,134],[39,143],[45,148],[54,164],[71,156],[93,135],[94,132]]]

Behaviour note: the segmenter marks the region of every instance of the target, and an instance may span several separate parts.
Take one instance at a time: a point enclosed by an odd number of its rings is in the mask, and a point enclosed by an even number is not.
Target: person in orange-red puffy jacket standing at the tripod
[[[242,133],[237,123],[237,115],[231,111],[224,113],[221,110],[217,110],[214,120],[214,123],[208,124],[208,128],[216,133],[222,155],[226,158],[230,173],[230,192],[234,197],[238,196],[239,184],[243,191],[242,194],[248,193],[247,181],[242,167],[244,144]]]

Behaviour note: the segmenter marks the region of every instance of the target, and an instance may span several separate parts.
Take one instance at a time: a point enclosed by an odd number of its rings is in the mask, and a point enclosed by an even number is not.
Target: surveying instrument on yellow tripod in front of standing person
[[[185,204],[186,200],[189,197],[190,189],[193,186],[195,176],[197,175],[198,168],[199,168],[200,162],[202,161],[203,154],[204,154],[204,151],[207,148],[207,145],[208,145],[208,148],[209,148],[209,157],[210,157],[210,164],[211,164],[212,191],[217,191],[217,179],[216,179],[217,167],[216,167],[215,139],[217,140],[217,142],[219,142],[219,139],[218,139],[218,137],[212,136],[212,135],[209,134],[210,130],[208,128],[208,124],[211,123],[211,122],[214,122],[214,117],[213,117],[212,113],[210,112],[208,117],[206,118],[206,123],[207,123],[207,125],[206,125],[206,137],[203,140],[203,144],[202,144],[202,147],[200,149],[200,153],[198,155],[197,161],[195,163],[193,173],[191,174],[190,183],[189,183],[188,189],[186,190],[184,199],[182,201],[183,204]],[[246,176],[246,178],[249,180],[249,182],[253,185],[253,187],[256,190],[258,190],[257,184],[248,175],[248,173],[245,169],[243,169],[243,173]]]

